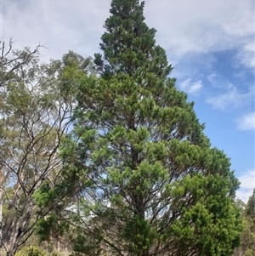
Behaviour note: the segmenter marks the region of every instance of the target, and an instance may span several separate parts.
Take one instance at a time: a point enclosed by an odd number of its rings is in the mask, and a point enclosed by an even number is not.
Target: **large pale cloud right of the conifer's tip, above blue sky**
[[[174,61],[189,51],[239,48],[242,52],[254,42],[252,0],[161,0],[158,4],[147,0],[145,14],[150,26],[158,31],[159,43]]]

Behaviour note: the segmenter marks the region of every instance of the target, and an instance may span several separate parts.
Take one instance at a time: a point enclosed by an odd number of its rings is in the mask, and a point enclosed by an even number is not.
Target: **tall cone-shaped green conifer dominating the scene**
[[[143,11],[139,0],[112,0],[95,54],[99,76],[83,79],[77,95],[76,161],[68,144],[62,152],[87,175],[76,249],[232,255],[241,231],[238,180],[168,77],[172,67]]]

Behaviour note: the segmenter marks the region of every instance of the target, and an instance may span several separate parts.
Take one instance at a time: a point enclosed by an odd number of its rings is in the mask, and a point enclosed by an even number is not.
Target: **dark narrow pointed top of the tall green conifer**
[[[105,20],[105,33],[94,63],[107,76],[118,73],[140,77],[145,72],[166,79],[172,70],[167,54],[156,45],[156,29],[144,22],[144,1],[112,0],[110,17]]]

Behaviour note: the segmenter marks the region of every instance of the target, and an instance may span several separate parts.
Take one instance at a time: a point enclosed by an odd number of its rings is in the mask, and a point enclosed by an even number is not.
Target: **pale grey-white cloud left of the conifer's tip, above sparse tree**
[[[22,3],[20,3],[22,2]],[[93,55],[99,51],[111,0],[3,1],[2,35],[14,37],[14,48],[46,44],[42,54],[61,58],[68,50]]]

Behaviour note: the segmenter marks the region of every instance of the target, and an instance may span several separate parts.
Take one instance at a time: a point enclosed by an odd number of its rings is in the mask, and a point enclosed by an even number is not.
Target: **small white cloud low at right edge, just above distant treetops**
[[[252,196],[252,191],[255,187],[255,170],[250,170],[237,178],[241,182],[241,185],[240,189],[236,191],[236,197],[246,203],[249,197]]]

